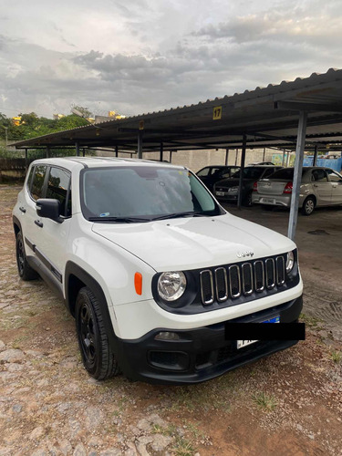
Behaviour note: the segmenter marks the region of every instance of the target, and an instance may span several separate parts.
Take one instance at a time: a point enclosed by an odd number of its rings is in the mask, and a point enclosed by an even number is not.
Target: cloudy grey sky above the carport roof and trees
[[[1,0],[0,112],[141,114],[342,67],[341,0]]]

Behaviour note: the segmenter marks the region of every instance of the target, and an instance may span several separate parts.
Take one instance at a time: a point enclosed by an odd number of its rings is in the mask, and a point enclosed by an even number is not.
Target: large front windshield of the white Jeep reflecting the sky
[[[150,221],[223,213],[194,175],[181,169],[120,166],[82,171],[82,212],[91,220]],[[164,217],[165,216],[165,217]]]

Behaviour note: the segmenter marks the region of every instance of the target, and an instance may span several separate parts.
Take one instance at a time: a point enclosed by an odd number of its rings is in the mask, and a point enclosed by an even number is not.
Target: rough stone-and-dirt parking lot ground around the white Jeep
[[[0,186],[0,455],[341,454],[341,210],[299,218],[306,341],[171,388],[88,377],[63,304],[16,275],[17,192]],[[239,213],[286,231],[285,212]]]

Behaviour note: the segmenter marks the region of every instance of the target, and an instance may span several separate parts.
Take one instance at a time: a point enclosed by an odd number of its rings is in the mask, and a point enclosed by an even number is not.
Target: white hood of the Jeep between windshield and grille
[[[229,264],[295,249],[295,244],[263,226],[229,213],[215,217],[149,223],[94,223],[94,233],[119,245],[156,271]]]

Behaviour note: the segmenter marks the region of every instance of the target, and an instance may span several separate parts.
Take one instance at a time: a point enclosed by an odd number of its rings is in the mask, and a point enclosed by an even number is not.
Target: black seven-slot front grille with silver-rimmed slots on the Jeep
[[[285,256],[220,266],[200,273],[201,297],[204,306],[214,300],[248,296],[285,284]]]

